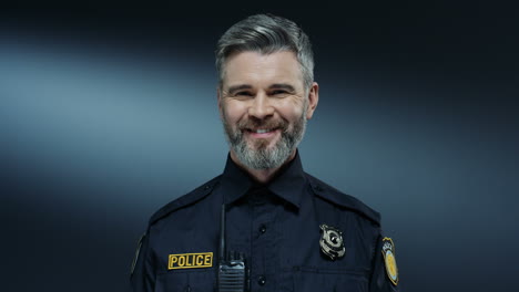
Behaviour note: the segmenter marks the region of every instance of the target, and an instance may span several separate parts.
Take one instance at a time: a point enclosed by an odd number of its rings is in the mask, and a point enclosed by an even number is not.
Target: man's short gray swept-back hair
[[[234,53],[253,51],[271,54],[293,52],[299,62],[303,84],[308,90],[314,82],[314,53],[308,36],[293,21],[272,14],[248,17],[231,27],[216,45],[216,70],[222,86],[224,65]]]

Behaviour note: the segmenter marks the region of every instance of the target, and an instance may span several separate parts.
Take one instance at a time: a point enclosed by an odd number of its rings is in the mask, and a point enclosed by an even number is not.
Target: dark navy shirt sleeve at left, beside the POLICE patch
[[[130,284],[133,292],[154,291],[155,270],[151,260],[149,232],[143,234],[139,240],[138,249],[132,262]]]

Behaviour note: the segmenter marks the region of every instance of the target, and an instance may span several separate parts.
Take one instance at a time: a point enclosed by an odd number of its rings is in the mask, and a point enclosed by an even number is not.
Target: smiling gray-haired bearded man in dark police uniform
[[[297,145],[319,96],[307,35],[279,17],[250,17],[220,39],[216,67],[225,170],[152,216],[133,290],[398,291],[379,215],[303,171]],[[245,267],[238,290],[222,288],[218,265],[231,260]]]

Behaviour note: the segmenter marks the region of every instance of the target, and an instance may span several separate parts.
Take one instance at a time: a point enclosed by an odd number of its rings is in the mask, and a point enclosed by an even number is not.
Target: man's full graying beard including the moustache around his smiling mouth
[[[271,169],[282,166],[299,145],[305,134],[308,103],[305,102],[303,106],[303,114],[294,122],[292,128],[286,119],[272,121],[250,117],[240,122],[236,129],[234,129],[226,121],[225,114],[223,114],[222,122],[225,137],[237,159],[251,169]],[[223,108],[223,112],[225,113],[225,108]],[[268,139],[247,143],[244,137],[247,128],[278,128],[281,129],[281,138],[272,147],[268,147]]]

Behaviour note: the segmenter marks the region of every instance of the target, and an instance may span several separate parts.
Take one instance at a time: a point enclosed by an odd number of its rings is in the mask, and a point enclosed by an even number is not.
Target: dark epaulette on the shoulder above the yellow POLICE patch
[[[165,216],[170,215],[171,212],[203,199],[205,196],[211,194],[213,188],[218,184],[221,176],[222,175],[211,179],[210,181],[207,181],[207,182],[203,184],[202,186],[195,188],[191,192],[187,192],[186,195],[179,197],[177,199],[169,202],[167,205],[165,205],[164,207],[159,209],[150,218],[149,225],[152,226],[153,223],[155,223],[160,219],[164,218]]]

